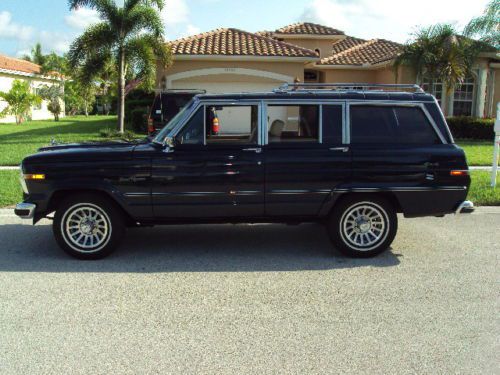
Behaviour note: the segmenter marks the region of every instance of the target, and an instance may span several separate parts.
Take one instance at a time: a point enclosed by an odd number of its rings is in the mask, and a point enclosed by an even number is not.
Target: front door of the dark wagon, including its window
[[[177,134],[173,150],[152,160],[155,217],[262,216],[259,118],[258,103],[202,103]]]

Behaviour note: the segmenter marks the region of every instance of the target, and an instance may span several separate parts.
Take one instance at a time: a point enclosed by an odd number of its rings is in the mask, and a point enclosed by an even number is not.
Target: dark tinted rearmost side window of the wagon
[[[419,107],[356,105],[350,114],[352,143],[440,143]]]

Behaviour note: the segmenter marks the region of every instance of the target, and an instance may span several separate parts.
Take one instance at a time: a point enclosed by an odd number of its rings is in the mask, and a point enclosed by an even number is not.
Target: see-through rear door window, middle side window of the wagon
[[[318,142],[318,105],[268,105],[269,143]]]

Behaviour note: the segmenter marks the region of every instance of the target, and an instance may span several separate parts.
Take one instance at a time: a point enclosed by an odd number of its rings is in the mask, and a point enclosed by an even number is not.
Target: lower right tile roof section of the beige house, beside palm
[[[333,45],[333,55],[318,65],[374,65],[396,57],[401,44],[385,39],[363,40],[348,37]]]

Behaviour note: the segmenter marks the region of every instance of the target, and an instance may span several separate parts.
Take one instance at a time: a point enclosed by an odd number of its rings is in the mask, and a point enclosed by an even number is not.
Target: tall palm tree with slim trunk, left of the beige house
[[[110,61],[118,72],[118,129],[125,129],[126,79],[142,87],[154,87],[156,63],[167,65],[170,50],[163,40],[159,11],[164,0],[70,0],[70,9],[97,10],[101,22],[75,39],[68,54],[72,68],[80,68],[81,80],[92,81]]]

